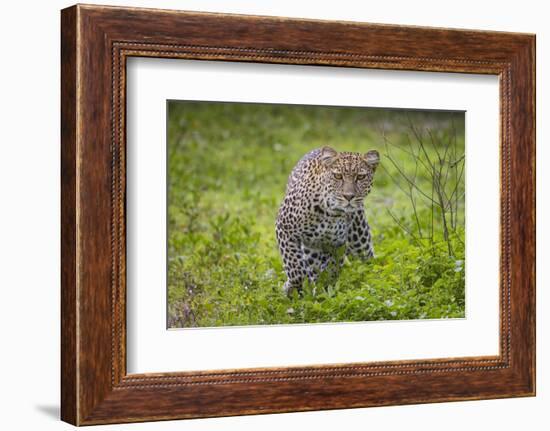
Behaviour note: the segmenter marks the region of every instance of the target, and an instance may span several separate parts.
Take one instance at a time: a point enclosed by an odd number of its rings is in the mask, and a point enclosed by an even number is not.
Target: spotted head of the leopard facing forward
[[[326,209],[351,213],[363,209],[363,201],[372,188],[374,172],[380,162],[378,151],[366,154],[337,152],[324,147],[320,154],[322,201]]]

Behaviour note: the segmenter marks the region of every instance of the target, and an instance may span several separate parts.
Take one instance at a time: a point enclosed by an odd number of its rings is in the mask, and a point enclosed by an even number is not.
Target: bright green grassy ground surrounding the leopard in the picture
[[[323,145],[381,154],[365,201],[376,257],[287,298],[275,218],[292,167]],[[463,114],[170,102],[169,327],[463,317],[463,154]]]

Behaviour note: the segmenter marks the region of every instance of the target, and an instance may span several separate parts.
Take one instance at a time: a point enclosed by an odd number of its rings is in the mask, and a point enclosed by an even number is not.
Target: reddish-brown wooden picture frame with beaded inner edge
[[[61,17],[62,420],[91,425],[535,394],[534,35],[83,5]],[[498,75],[500,354],[128,375],[131,56]]]

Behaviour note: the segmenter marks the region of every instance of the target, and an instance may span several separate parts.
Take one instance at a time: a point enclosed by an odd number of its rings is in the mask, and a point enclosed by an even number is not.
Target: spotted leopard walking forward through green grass
[[[346,256],[374,257],[364,200],[380,162],[376,150],[338,152],[330,146],[304,155],[292,169],[275,223],[286,281],[300,295],[306,280],[331,269],[338,278]]]

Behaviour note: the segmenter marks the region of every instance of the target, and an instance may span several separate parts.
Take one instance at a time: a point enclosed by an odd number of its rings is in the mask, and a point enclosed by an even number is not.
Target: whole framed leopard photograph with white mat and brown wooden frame
[[[62,419],[535,394],[535,36],[61,14]]]

